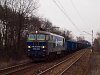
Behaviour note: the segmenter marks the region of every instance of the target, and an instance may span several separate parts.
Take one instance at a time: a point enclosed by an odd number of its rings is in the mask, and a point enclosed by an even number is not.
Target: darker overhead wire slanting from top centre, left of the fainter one
[[[57,0],[58,1],[58,0]],[[56,6],[60,9],[60,11],[67,17],[67,19],[73,24],[73,26],[77,29],[78,32],[81,32],[80,29],[76,26],[76,24],[72,21],[72,19],[68,16],[67,12],[65,11],[64,7],[62,4],[59,2],[59,4],[53,0],[53,2],[56,4]]]

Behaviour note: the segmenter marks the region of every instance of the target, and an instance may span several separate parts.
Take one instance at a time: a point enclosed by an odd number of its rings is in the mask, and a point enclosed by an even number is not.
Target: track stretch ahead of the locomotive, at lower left
[[[7,67],[7,68],[3,68],[0,69],[0,75],[10,75],[11,73],[26,69],[28,67],[30,67],[32,64],[32,61],[29,62],[25,62],[25,63],[21,63],[19,65],[15,65],[15,66],[11,66],[11,67]]]

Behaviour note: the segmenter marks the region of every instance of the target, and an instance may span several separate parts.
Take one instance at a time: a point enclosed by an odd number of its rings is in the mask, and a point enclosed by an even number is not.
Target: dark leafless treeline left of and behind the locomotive
[[[35,16],[37,8],[35,0],[0,0],[0,59],[23,58],[31,31],[49,31],[70,39],[70,31],[54,29],[49,20]]]

